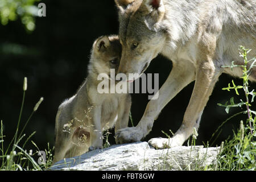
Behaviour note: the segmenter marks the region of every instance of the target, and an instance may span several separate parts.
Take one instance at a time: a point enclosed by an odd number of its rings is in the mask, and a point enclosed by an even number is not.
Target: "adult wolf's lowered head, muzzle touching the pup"
[[[118,73],[141,75],[162,51],[166,40],[162,27],[163,0],[115,0],[119,10],[122,57]]]

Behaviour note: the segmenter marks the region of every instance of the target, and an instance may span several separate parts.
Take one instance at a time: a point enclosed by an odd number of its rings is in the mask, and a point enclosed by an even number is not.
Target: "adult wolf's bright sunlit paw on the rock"
[[[148,140],[148,143],[156,149],[180,146],[180,144],[176,143],[172,138],[151,138]]]

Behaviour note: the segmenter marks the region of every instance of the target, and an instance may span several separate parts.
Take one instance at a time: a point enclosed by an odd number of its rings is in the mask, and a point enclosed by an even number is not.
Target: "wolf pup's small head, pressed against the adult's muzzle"
[[[89,70],[100,74],[106,73],[110,77],[110,69],[118,71],[122,46],[117,35],[101,36],[93,43]]]

